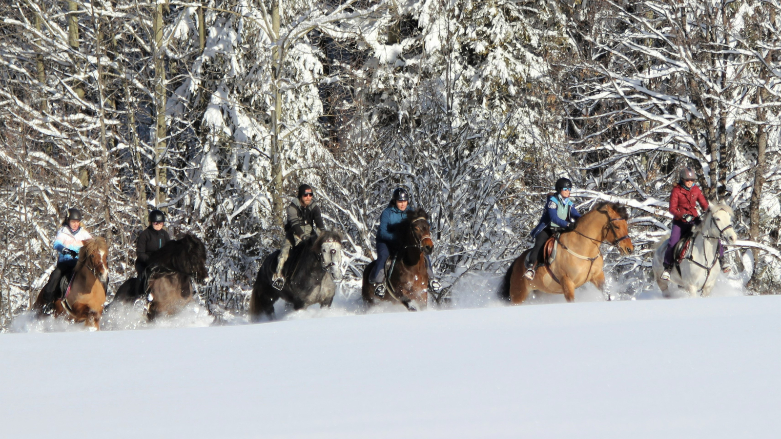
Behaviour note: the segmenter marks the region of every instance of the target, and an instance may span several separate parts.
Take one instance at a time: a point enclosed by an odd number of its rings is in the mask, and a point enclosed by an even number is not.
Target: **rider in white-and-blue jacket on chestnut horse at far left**
[[[44,287],[44,309],[46,314],[51,314],[54,308],[52,303],[57,299],[55,297],[57,285],[62,277],[69,276],[73,272],[79,261],[79,249],[84,245],[84,241],[92,239],[92,236],[84,227],[81,227],[81,212],[79,209],[68,209],[68,214],[62,220],[62,228],[57,231],[54,239],[54,249],[59,254],[57,257],[57,266]],[[60,291],[62,294],[63,291]]]

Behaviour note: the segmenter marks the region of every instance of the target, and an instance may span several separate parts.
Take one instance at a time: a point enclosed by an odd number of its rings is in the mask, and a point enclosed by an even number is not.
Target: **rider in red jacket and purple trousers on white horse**
[[[670,239],[665,251],[665,271],[662,272],[662,280],[670,280],[670,269],[672,269],[672,249],[675,248],[678,241],[684,234],[688,234],[691,228],[700,223],[700,213],[697,212],[697,203],[703,210],[708,209],[708,200],[702,195],[700,187],[694,184],[697,180],[697,174],[690,167],[681,170],[680,180],[672,186],[670,195],[670,213],[672,213],[672,230]],[[722,241],[719,241],[719,262],[724,273],[729,273],[732,269],[729,261],[724,257],[724,248]]]

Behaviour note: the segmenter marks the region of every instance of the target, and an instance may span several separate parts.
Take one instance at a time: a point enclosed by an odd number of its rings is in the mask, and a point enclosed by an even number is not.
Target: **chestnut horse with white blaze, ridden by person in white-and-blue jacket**
[[[79,249],[79,262],[73,268],[73,277],[63,278],[61,288],[64,297],[54,302],[55,317],[67,317],[75,323],[84,322],[90,330],[98,330],[105,303],[105,284],[109,281],[109,244],[103,237],[84,241]],[[45,305],[43,290],[33,304],[37,316],[43,314]]]

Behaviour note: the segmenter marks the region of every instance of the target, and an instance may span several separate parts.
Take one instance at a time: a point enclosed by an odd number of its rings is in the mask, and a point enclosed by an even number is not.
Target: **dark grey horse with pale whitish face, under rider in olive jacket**
[[[274,316],[274,302],[282,298],[293,308],[305,309],[319,303],[330,307],[336,293],[334,280],[341,280],[342,237],[337,232],[325,230],[317,237],[308,237],[291,249],[283,272],[287,282],[282,290],[272,287],[273,274],[280,250],[266,256],[258,270],[249,299],[249,317],[259,321],[262,315]]]

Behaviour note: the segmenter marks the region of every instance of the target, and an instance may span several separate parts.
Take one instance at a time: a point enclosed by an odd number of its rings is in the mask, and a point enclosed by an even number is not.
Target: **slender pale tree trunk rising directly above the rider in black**
[[[163,159],[166,154],[166,62],[162,48],[163,3],[155,4],[155,206],[166,202],[166,166]],[[167,210],[167,209],[165,209]]]

